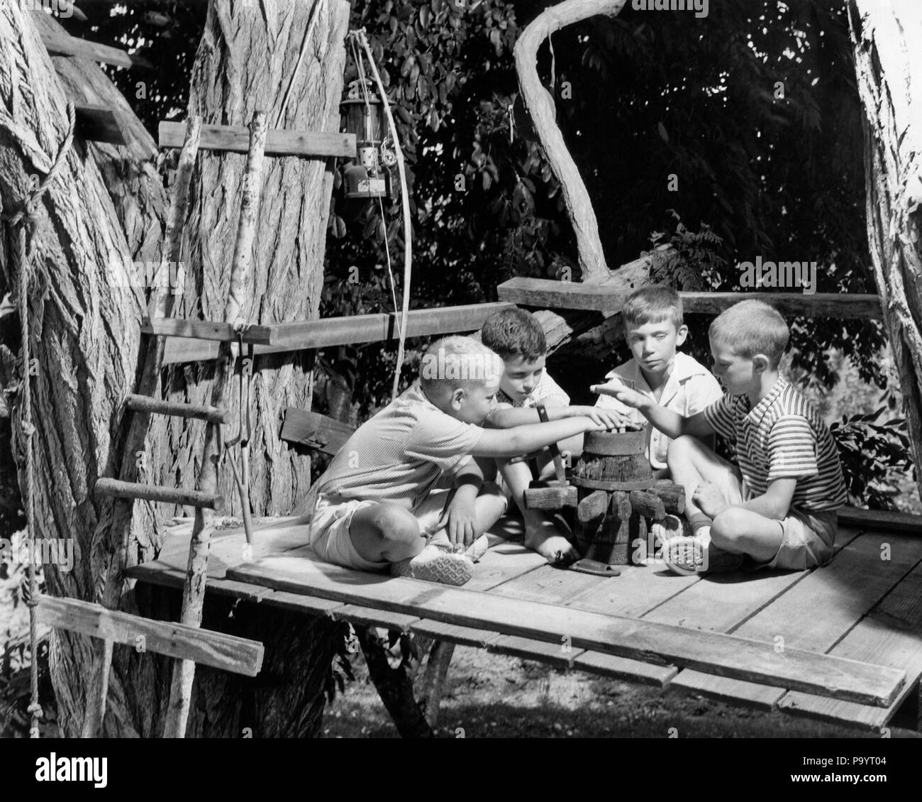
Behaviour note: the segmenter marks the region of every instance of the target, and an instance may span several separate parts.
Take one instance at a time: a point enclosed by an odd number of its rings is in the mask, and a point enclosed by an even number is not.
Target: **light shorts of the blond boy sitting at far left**
[[[433,490],[414,511],[424,533],[439,520],[448,500],[449,490]],[[378,501],[343,498],[336,494],[321,493],[311,519],[310,543],[317,557],[324,562],[360,571],[377,571],[387,568],[388,562],[372,562],[355,550],[349,535],[352,516],[360,509],[373,507]]]

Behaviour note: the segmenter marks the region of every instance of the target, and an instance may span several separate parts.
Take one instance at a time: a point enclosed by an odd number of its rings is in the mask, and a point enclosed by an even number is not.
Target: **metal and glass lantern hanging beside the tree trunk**
[[[354,134],[358,159],[343,172],[346,198],[391,198],[393,164],[384,146],[384,103],[365,80],[353,81],[349,95],[339,104],[340,129]]]

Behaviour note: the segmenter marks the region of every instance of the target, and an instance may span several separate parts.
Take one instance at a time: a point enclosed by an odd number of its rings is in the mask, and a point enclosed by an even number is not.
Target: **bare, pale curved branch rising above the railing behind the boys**
[[[576,247],[579,252],[583,281],[599,281],[609,277],[605,265],[602,243],[598,238],[598,222],[592,201],[570,151],[563,141],[561,129],[555,122],[554,99],[538,78],[538,48],[555,30],[589,17],[603,14],[617,15],[627,0],[566,0],[546,8],[528,24],[518,42],[515,42],[515,69],[526,107],[538,131],[538,138],[548,156],[548,162],[561,181],[563,200],[566,203]]]

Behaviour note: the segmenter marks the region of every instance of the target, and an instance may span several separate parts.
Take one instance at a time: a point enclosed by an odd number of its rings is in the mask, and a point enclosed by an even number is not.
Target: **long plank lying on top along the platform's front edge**
[[[779,654],[771,642],[692,633],[655,622],[603,616],[430,582],[360,576],[356,571],[300,558],[303,551],[265,557],[230,569],[228,576],[348,604],[495,629],[504,635],[551,641],[570,636],[574,648],[675,663],[754,682],[782,682],[788,688],[864,704],[890,704],[904,683],[901,671],[796,648]]]

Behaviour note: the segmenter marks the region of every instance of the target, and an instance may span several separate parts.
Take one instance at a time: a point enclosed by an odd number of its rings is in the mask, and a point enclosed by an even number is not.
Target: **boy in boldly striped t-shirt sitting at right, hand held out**
[[[755,567],[808,569],[833,554],[836,510],[847,495],[829,429],[778,364],[790,332],[774,307],[741,301],[708,330],[715,376],[727,395],[683,417],[623,386],[596,386],[673,437],[668,465],[685,486],[691,535],[663,544],[680,574]],[[736,440],[739,469],[694,437]]]

